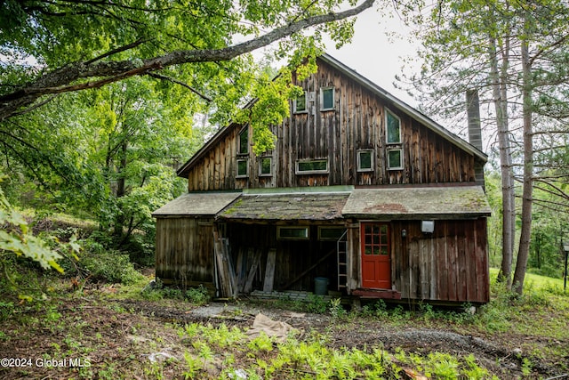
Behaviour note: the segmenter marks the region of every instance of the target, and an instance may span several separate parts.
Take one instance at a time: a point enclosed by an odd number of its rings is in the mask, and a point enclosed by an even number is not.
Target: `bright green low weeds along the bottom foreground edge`
[[[179,336],[188,344],[183,374],[202,378],[204,373],[216,372],[217,367],[220,373],[212,378],[236,378],[237,374],[250,379],[405,378],[421,372],[442,379],[497,378],[479,367],[473,355],[460,358],[442,352],[421,355],[403,350],[391,354],[381,347],[332,349],[327,344],[329,336],[312,331],[299,340],[298,334],[293,331],[279,342],[263,333],[248,339],[246,330],[225,325],[194,323],[180,327]],[[214,360],[219,357],[223,358],[221,366],[220,360]]]

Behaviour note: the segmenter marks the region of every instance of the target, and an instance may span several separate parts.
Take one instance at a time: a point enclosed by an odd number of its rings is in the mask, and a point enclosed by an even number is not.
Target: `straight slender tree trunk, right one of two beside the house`
[[[533,130],[532,130],[532,83],[531,62],[527,39],[521,41],[522,53],[522,101],[524,115],[524,188],[522,190],[522,228],[517,252],[514,290],[518,295],[524,292],[525,270],[530,252],[533,206]]]

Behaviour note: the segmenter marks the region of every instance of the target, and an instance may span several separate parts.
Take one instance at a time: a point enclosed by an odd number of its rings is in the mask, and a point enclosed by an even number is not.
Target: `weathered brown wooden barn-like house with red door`
[[[220,295],[313,291],[486,303],[479,122],[470,144],[324,55],[303,96],[252,152],[249,125],[178,170],[188,193],[156,210],[156,277]],[[322,287],[317,288],[318,293]]]

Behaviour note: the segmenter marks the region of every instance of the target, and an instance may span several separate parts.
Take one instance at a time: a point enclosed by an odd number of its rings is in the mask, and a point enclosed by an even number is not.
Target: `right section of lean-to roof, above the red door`
[[[357,189],[342,209],[344,217],[381,220],[469,219],[490,214],[480,186]]]

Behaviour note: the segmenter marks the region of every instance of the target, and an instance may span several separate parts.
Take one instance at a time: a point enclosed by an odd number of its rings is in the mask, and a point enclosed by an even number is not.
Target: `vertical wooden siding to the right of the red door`
[[[484,218],[435,221],[432,235],[421,233],[420,221],[392,222],[391,228],[392,278],[402,298],[488,302]]]

